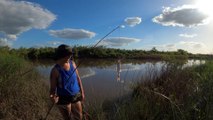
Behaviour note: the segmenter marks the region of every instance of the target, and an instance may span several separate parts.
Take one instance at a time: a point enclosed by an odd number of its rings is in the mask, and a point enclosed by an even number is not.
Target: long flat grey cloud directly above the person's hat
[[[85,38],[92,38],[95,36],[94,32],[87,31],[84,29],[63,29],[63,30],[50,30],[49,34],[59,38],[65,39],[85,39]]]

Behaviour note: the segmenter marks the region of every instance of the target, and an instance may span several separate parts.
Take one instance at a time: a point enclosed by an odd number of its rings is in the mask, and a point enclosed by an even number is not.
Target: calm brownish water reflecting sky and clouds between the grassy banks
[[[164,61],[121,60],[120,79],[117,79],[117,60],[87,59],[79,66],[86,100],[88,102],[103,102],[118,98],[131,92],[131,86],[140,82],[144,76],[158,74],[167,63]],[[48,64],[47,64],[48,63]],[[188,60],[184,67],[203,64],[205,61]],[[78,64],[78,62],[76,62]],[[53,62],[39,63],[38,71],[46,77],[49,84],[49,74]]]

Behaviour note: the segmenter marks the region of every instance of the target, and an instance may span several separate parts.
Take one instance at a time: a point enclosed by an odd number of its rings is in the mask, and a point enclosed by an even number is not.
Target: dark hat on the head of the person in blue
[[[55,60],[59,60],[61,58],[71,55],[72,55],[72,48],[68,45],[62,44],[58,46],[58,48],[55,51]]]

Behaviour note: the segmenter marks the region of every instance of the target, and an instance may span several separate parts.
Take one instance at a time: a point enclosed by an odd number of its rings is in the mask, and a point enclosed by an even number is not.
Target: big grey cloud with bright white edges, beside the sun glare
[[[192,5],[177,8],[165,7],[162,14],[154,17],[153,22],[164,26],[194,27],[207,24],[209,16]]]

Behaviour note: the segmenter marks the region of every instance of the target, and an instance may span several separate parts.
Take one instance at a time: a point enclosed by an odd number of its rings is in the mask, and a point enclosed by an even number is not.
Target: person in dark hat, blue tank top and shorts
[[[84,89],[72,60],[72,48],[62,44],[55,55],[56,64],[50,73],[50,98],[57,104],[64,120],[81,120]]]

